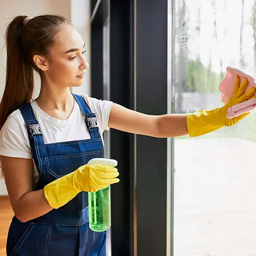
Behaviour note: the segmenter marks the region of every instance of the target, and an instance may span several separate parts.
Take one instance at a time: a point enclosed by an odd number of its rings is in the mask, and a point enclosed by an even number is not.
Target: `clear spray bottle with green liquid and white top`
[[[106,164],[117,166],[117,161],[106,158],[93,158],[88,162],[93,164]],[[111,226],[111,194],[110,186],[96,192],[88,192],[89,226],[93,231],[102,232]]]

